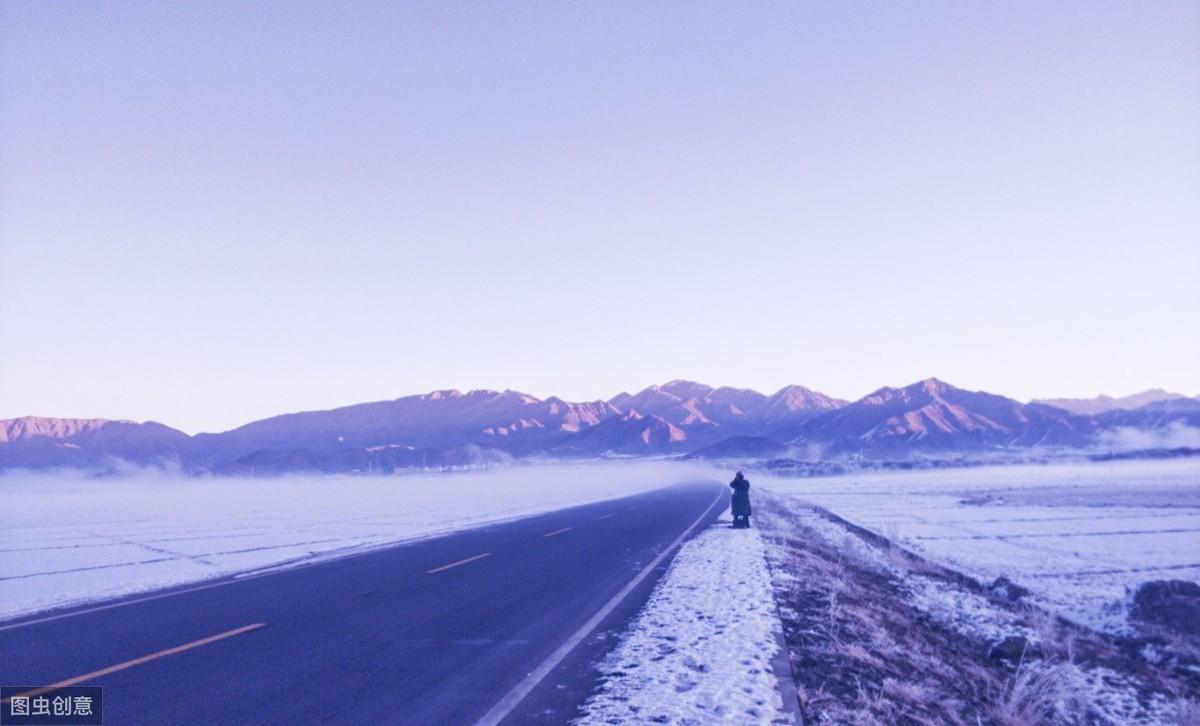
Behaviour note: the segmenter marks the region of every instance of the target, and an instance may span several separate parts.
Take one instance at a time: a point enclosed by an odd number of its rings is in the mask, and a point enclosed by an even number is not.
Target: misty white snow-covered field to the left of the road
[[[712,478],[683,464],[390,478],[0,476],[0,618]]]

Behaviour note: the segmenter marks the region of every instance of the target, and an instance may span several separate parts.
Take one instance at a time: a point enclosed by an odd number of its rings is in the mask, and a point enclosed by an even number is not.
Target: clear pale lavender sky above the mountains
[[[1200,4],[0,5],[0,418],[1200,394]]]

